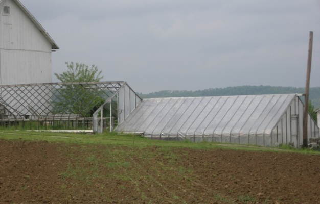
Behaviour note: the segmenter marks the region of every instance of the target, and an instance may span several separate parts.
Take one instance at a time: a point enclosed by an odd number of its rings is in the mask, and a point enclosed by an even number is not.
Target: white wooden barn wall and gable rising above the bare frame
[[[0,0],[0,85],[51,83],[58,45],[18,0]]]

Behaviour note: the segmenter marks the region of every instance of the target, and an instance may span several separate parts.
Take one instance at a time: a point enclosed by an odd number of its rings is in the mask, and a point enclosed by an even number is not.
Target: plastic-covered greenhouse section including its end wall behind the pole
[[[165,140],[302,145],[303,103],[296,94],[143,99],[118,131]],[[319,129],[309,116],[309,137]]]

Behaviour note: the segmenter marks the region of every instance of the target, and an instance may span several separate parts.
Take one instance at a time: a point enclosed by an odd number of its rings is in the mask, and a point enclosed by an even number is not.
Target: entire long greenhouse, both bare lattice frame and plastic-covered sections
[[[126,82],[0,86],[0,126],[118,131],[152,139],[303,144],[301,94],[142,99]],[[308,114],[308,141],[319,128]]]

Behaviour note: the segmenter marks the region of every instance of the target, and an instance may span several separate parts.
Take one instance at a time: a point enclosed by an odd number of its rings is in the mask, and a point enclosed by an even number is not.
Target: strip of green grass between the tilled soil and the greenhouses
[[[8,140],[45,140],[48,142],[65,142],[78,144],[103,144],[103,145],[125,145],[143,148],[145,146],[167,146],[167,147],[187,147],[196,149],[233,149],[248,151],[276,151],[276,152],[299,152],[302,154],[318,154],[319,151],[312,149],[295,149],[283,147],[260,147],[256,145],[225,144],[215,142],[185,142],[185,141],[164,141],[152,140],[139,135],[119,134],[115,132],[104,134],[85,133],[51,133],[35,132],[11,129],[0,129],[0,139]]]

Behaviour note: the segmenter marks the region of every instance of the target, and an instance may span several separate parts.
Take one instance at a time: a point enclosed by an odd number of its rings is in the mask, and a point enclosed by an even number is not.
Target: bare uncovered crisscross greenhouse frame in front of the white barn
[[[121,87],[129,86],[126,82],[0,86],[0,125],[38,130],[92,129],[98,109],[104,111],[103,123],[114,123],[118,121],[118,101],[109,107],[104,105]],[[131,88],[130,93],[138,96]]]

